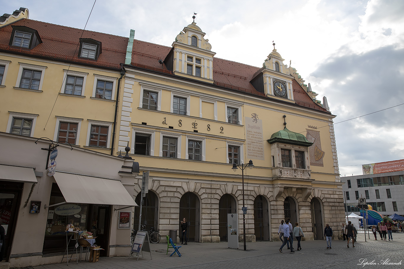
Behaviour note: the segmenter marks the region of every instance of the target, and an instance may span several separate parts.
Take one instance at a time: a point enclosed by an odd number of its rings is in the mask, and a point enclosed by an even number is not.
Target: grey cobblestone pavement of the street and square
[[[75,261],[66,263],[27,267],[27,269],[244,269],[244,268],[278,268],[288,267],[291,269],[353,269],[353,268],[404,268],[404,234],[394,233],[394,241],[375,240],[373,234],[370,239],[364,234],[358,234],[358,242],[355,248],[350,243],[347,248],[346,241],[332,241],[332,249],[326,249],[325,240],[302,241],[301,251],[290,253],[286,247],[283,253],[279,252],[280,242],[252,242],[247,243],[247,251],[243,250],[243,243],[239,243],[239,249],[227,248],[227,243],[188,243],[181,245],[181,257],[169,256],[166,254],[166,244],[151,244],[151,258],[149,252],[143,252],[144,258],[136,257],[101,257],[97,263]],[[294,241],[297,248],[297,242]],[[171,251],[171,249],[170,249]],[[360,259],[367,259],[367,262],[374,261],[372,265],[360,265]],[[377,264],[381,260],[388,260],[387,263],[399,263],[402,265]]]

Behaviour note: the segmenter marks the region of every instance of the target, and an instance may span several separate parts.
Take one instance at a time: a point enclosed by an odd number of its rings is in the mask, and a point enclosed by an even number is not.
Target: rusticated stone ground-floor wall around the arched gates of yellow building
[[[151,178],[150,178],[151,179]],[[140,183],[135,186],[135,196],[141,191]],[[159,229],[162,235],[162,241],[169,230],[178,230],[179,223],[179,202],[183,194],[193,192],[198,196],[201,202],[201,225],[200,240],[202,242],[219,242],[219,200],[223,194],[230,194],[236,198],[239,213],[239,241],[243,241],[243,218],[242,208],[242,185],[230,182],[210,183],[189,181],[175,181],[153,179],[151,190],[156,192],[159,202]],[[302,228],[305,238],[303,240],[313,240],[314,235],[311,231],[311,199],[317,197],[321,201],[323,227],[330,224],[334,234],[333,238],[338,239],[339,227],[345,221],[342,191],[332,189],[314,189],[307,201],[303,201],[301,189],[297,189],[294,193],[291,188],[285,188],[284,193],[279,200],[274,200],[271,185],[252,185],[244,184],[244,200],[248,208],[246,214],[246,241],[254,242],[254,200],[258,195],[267,198],[269,202],[269,219],[270,233],[272,241],[279,241],[278,227],[282,219],[284,219],[284,199],[290,196],[295,199],[298,205],[298,222]],[[292,223],[294,226],[294,223]]]

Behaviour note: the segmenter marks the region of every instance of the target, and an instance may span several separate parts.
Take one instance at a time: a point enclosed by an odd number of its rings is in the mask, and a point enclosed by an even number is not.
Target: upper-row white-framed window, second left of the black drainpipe
[[[63,69],[62,93],[84,96],[88,73]]]

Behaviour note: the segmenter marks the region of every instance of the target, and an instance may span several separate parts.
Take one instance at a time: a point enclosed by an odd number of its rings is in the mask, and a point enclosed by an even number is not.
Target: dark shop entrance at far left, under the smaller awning
[[[0,181],[0,218],[2,219],[0,225],[6,232],[4,236],[5,245],[2,247],[3,257],[2,259],[0,257],[0,262],[10,259],[22,186],[23,183]]]

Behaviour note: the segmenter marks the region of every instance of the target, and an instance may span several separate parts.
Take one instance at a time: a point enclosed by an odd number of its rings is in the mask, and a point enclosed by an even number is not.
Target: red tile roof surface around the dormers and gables
[[[42,39],[42,43],[31,50],[9,46],[8,44],[12,32],[11,25],[26,26],[37,30]],[[78,58],[80,38],[92,38],[101,42],[102,52],[97,60]],[[120,63],[125,63],[127,46],[128,38],[125,37],[93,31],[83,31],[81,29],[33,21],[30,19],[21,19],[0,28],[1,51],[73,61],[84,65],[119,69]],[[161,65],[158,62],[160,59],[164,60],[170,50],[171,47],[134,40],[131,65],[172,74],[171,71],[166,69],[165,65]],[[216,85],[248,92],[262,96],[263,98],[269,98],[255,90],[250,83],[251,79],[254,78],[254,74],[259,71],[259,69],[260,67],[244,65],[221,58],[213,58],[213,80]],[[292,85],[293,96],[297,106],[329,113],[326,109],[315,104],[295,79],[293,79]]]

